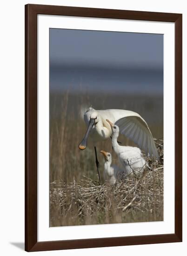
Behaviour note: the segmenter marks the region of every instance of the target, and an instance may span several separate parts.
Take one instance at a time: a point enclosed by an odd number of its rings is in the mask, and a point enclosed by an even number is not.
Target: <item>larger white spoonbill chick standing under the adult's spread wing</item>
[[[112,128],[112,146],[114,152],[118,155],[118,158],[121,164],[124,166],[127,174],[142,173],[145,170],[147,163],[142,157],[140,148],[120,146],[117,142],[117,138],[120,132],[119,127],[109,120],[106,121],[110,124]]]

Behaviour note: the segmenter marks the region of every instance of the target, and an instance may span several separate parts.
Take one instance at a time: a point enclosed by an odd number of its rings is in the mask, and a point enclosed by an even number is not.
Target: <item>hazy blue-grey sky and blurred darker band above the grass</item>
[[[50,89],[70,85],[162,94],[163,35],[50,29]]]

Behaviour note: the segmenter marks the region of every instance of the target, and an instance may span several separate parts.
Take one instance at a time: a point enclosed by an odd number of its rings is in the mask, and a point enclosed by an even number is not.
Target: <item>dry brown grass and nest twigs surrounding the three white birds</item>
[[[146,119],[153,135],[162,137],[158,97],[132,97],[50,94],[50,226],[163,220],[163,141],[156,141],[159,161],[147,159],[150,168],[143,177],[130,175],[115,185],[103,184],[103,178],[99,184],[91,141],[86,150],[78,148],[86,130],[79,116],[83,105],[136,111]],[[124,136],[119,140],[122,145],[134,145]],[[113,163],[118,164],[110,140],[100,142],[98,151],[101,149],[111,152]],[[103,157],[98,156],[102,177]]]

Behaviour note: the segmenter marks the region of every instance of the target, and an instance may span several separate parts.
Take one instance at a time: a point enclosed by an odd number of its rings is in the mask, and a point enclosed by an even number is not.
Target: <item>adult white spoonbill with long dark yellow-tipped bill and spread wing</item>
[[[147,155],[158,157],[147,122],[138,113],[122,109],[95,110],[94,108],[88,108],[84,114],[84,120],[88,128],[80,142],[80,149],[83,150],[87,147],[89,133],[94,143],[111,137],[112,129],[106,119],[116,124],[120,133],[134,141]]]

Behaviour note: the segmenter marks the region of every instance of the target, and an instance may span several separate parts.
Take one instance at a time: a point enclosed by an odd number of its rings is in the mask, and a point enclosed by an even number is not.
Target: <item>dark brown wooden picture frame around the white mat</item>
[[[37,14],[174,22],[175,232],[149,236],[37,241]],[[182,241],[182,14],[85,7],[25,6],[25,250],[93,248]]]

